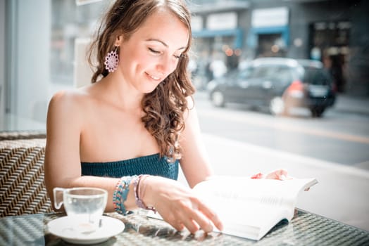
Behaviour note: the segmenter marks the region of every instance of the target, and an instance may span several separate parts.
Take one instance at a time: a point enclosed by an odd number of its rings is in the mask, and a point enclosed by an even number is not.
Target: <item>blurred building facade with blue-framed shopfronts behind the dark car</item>
[[[193,2],[196,72],[205,80],[212,60],[230,70],[257,57],[306,58],[325,64],[340,93],[369,96],[368,1]]]

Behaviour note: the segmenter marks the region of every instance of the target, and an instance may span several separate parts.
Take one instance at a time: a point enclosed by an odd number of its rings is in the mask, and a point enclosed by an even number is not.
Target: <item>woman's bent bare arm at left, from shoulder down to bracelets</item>
[[[106,211],[113,211],[113,190],[118,179],[81,176],[80,135],[83,131],[86,105],[80,92],[56,93],[49,103],[46,120],[45,184],[54,207],[53,189],[80,186],[108,190]],[[133,202],[132,202],[133,201]],[[127,207],[135,207],[133,193]]]

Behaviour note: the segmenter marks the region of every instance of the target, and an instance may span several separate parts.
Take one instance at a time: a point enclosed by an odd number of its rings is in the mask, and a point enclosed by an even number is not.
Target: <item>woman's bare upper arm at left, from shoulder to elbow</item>
[[[46,119],[45,184],[53,203],[53,188],[73,186],[81,176],[80,134],[82,119],[76,96],[56,93],[49,103]]]

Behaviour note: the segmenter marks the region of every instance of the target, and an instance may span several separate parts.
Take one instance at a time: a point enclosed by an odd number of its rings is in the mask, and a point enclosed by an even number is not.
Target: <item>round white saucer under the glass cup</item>
[[[121,233],[125,228],[122,221],[109,216],[102,216],[102,226],[92,233],[80,233],[73,229],[73,226],[73,221],[70,221],[68,216],[54,219],[47,224],[51,234],[57,235],[66,242],[80,245],[104,242]]]

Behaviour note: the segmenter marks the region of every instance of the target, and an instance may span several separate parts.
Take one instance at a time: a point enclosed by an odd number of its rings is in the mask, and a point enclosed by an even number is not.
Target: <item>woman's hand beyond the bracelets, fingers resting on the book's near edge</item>
[[[160,176],[148,176],[142,185],[146,186],[142,194],[145,204],[155,207],[177,231],[186,227],[191,233],[199,228],[209,233],[213,231],[213,225],[222,231],[223,224],[218,216],[190,188]]]

